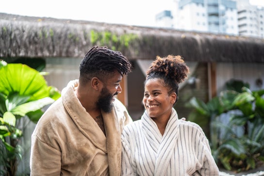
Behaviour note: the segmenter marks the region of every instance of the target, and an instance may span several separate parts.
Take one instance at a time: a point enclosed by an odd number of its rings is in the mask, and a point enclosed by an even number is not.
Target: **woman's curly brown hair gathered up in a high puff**
[[[179,83],[187,77],[188,72],[189,67],[181,56],[168,55],[164,58],[157,56],[147,70],[145,84],[150,79],[161,79],[168,88],[168,94],[175,92],[178,99]]]

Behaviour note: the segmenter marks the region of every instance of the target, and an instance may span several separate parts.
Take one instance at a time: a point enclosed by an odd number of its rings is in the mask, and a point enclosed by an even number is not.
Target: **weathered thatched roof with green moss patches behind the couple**
[[[181,55],[185,61],[264,62],[264,40],[0,13],[0,57],[83,57],[94,45],[129,59]]]

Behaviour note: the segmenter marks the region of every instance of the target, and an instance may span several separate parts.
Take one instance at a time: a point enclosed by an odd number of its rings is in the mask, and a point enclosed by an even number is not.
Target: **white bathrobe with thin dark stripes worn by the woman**
[[[147,112],[122,132],[122,176],[219,176],[202,129],[172,109],[162,135]]]

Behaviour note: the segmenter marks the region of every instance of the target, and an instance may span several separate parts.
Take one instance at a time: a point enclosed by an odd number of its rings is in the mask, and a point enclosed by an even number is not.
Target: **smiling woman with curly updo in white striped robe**
[[[157,57],[147,71],[141,119],[122,132],[123,176],[219,176],[202,129],[173,108],[189,68],[181,56]]]

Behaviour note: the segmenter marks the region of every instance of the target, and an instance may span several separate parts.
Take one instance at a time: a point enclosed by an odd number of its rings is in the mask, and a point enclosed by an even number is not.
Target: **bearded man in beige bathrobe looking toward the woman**
[[[120,52],[93,47],[37,123],[32,135],[32,176],[119,176],[121,131],[132,122],[115,99],[131,64]]]

